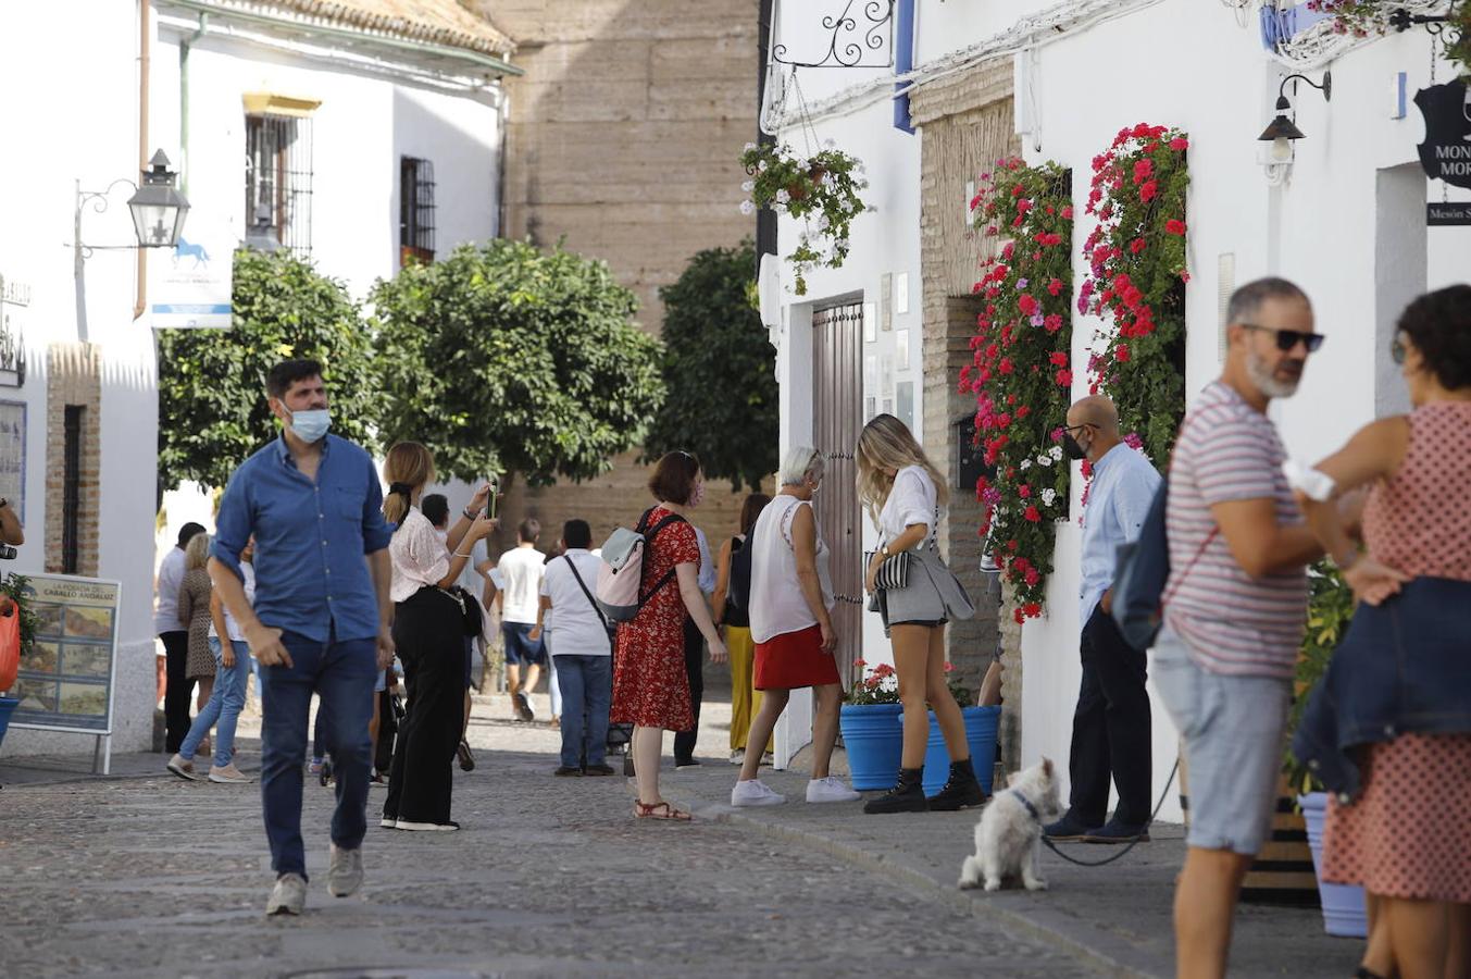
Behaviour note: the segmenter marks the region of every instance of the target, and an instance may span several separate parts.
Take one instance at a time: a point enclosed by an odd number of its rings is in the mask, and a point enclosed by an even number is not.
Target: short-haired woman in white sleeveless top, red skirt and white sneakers
[[[791,690],[812,688],[816,718],[812,724],[812,779],[808,802],[852,802],[858,792],[828,773],[837,743],[837,715],[843,680],[833,654],[833,580],[828,549],[818,533],[812,498],[822,486],[827,462],[811,446],[797,446],[781,461],[781,490],[750,531],[750,636],[756,642],[756,689],[761,710],[750,726],[756,743],[765,743],[787,708]],[[731,805],[775,805],[786,799],[756,777],[761,752],[747,751]]]

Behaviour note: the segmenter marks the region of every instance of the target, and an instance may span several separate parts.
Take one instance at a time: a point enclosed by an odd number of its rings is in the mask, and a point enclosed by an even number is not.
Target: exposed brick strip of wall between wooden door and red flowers
[[[1016,153],[1012,132],[1011,59],[924,85],[911,99],[921,127],[919,240],[924,309],[924,443],[953,471],[955,421],[974,414],[972,395],[956,392],[961,367],[971,362],[971,337],[980,302],[971,287],[978,265],[993,247],[966,219],[966,183],[980,183],[1002,156]],[[977,615],[949,630],[949,655],[962,683],[972,689],[1002,642],[1002,761],[1018,767],[1021,748],[1021,630],[1011,621],[999,589],[980,571],[977,536],[981,508],[975,493],[952,489],[950,512],[940,526],[946,559],[977,599]]]

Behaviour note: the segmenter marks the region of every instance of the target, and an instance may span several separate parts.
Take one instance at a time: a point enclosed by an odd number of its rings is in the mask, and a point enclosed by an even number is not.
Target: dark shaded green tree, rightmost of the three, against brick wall
[[[777,470],[777,352],[746,296],[755,265],[750,241],[706,249],[659,290],[669,399],[644,442],[647,459],[694,452],[734,490],[758,490]]]

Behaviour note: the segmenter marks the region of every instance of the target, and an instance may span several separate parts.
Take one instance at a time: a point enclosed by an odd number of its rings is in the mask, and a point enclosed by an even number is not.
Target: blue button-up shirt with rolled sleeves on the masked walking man
[[[328,434],[316,481],[278,437],[229,478],[210,555],[240,574],[256,536],[256,615],[316,642],[378,635],[378,593],[365,555],[388,546],[372,456]]]

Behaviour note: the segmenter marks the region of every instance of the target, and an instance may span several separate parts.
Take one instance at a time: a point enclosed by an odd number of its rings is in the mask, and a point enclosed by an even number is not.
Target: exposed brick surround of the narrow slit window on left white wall
[[[81,518],[76,573],[97,576],[97,509],[101,467],[101,349],[53,343],[46,352],[46,570],[62,571],[62,496],[66,476],[66,406],[81,405]]]

